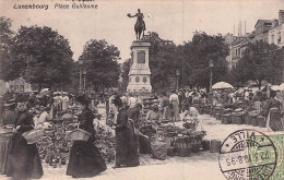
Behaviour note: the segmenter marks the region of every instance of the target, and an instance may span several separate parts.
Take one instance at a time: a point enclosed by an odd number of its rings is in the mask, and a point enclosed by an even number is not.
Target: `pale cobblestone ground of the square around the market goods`
[[[205,140],[221,140],[239,129],[256,129],[265,131],[264,128],[251,125],[237,125],[237,124],[221,124],[221,121],[208,115],[202,115],[204,129],[206,131]],[[179,122],[181,124],[181,122]],[[180,125],[179,124],[179,125]],[[222,175],[218,167],[218,154],[210,152],[201,152],[191,154],[190,157],[167,157],[166,160],[157,160],[151,158],[150,155],[140,156],[141,166],[131,168],[113,169],[114,164],[109,164],[105,172],[90,179],[109,179],[109,180],[174,180],[174,179],[190,179],[190,180],[223,180],[225,177]],[[63,180],[72,179],[66,176],[67,166],[52,168],[48,165],[44,166],[43,180]],[[0,176],[0,179],[7,179]]]

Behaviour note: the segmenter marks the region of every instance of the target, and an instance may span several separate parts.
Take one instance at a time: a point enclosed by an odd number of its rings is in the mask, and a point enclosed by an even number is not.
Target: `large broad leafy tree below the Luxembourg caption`
[[[22,26],[14,37],[11,69],[32,84],[50,87],[70,82],[73,63],[69,41],[50,27]],[[16,76],[14,75],[14,76]]]

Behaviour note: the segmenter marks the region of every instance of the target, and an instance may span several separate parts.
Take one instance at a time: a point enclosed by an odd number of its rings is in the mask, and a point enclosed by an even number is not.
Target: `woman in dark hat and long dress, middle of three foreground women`
[[[83,111],[78,117],[79,128],[90,132],[91,136],[87,142],[73,142],[67,175],[73,178],[90,178],[105,171],[107,168],[104,158],[94,145],[94,115],[88,109],[91,100],[84,95],[79,96],[76,100],[83,106]]]

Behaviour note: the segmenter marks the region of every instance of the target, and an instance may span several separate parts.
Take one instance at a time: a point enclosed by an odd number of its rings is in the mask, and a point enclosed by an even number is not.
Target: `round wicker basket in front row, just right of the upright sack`
[[[191,154],[192,139],[189,136],[179,136],[175,141],[175,147],[179,157],[189,157]]]

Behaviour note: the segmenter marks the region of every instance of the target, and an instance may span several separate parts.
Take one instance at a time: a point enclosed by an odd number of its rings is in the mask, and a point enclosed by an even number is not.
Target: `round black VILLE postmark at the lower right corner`
[[[268,135],[245,129],[225,139],[218,164],[228,180],[268,180],[276,168],[277,157],[276,147]]]

